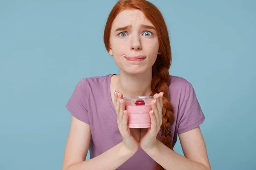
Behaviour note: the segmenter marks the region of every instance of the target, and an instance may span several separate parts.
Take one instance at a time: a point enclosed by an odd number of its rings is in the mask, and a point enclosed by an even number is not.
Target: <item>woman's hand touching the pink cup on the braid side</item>
[[[151,127],[140,130],[140,147],[145,150],[157,144],[157,133],[162,125],[163,92],[154,95],[151,102],[152,111],[149,112]]]

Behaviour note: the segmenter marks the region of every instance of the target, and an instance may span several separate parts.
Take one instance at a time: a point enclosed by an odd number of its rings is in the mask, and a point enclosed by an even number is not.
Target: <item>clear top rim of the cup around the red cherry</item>
[[[151,105],[153,96],[123,97],[125,105]]]

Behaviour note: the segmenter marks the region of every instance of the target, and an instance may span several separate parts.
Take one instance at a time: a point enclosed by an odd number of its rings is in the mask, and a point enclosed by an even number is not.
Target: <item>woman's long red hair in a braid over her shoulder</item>
[[[169,68],[172,63],[171,46],[169,34],[163,15],[159,9],[146,0],[119,0],[111,10],[106,22],[104,31],[104,43],[107,51],[110,50],[110,33],[113,20],[119,12],[125,9],[139,9],[145,17],[151,21],[157,31],[159,50],[161,54],[157,55],[156,62],[152,67],[151,95],[163,92],[163,123],[161,125],[162,135],[157,135],[157,139],[173,150],[171,140],[171,124],[174,119],[172,104],[169,102]],[[167,133],[165,133],[167,132]],[[169,133],[168,133],[169,132]],[[157,170],[164,170],[159,164]]]

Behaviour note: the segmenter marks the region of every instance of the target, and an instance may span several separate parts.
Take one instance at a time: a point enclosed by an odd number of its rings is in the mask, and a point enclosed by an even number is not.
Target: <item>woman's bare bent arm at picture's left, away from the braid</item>
[[[134,155],[121,142],[93,159],[84,161],[90,145],[90,125],[71,117],[62,170],[114,170]]]

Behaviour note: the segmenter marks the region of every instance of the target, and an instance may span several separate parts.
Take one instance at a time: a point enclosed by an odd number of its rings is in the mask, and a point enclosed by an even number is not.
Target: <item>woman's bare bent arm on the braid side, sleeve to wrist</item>
[[[157,140],[154,148],[145,152],[166,170],[211,170],[200,127],[179,134],[184,153],[181,156]]]

